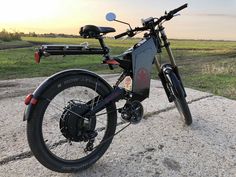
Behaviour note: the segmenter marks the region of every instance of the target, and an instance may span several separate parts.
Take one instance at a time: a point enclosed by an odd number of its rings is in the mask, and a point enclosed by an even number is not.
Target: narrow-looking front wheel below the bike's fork
[[[167,78],[169,91],[181,117],[184,119],[186,125],[191,125],[192,115],[189,110],[188,103],[186,102],[184,90],[181,86],[180,80],[174,72],[170,72],[167,75]]]

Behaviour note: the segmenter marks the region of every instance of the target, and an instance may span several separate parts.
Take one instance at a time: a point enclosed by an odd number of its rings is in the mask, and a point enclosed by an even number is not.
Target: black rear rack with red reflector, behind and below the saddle
[[[42,56],[50,55],[96,55],[106,54],[102,48],[90,48],[87,43],[80,45],[42,45],[34,54],[36,63],[40,62]]]

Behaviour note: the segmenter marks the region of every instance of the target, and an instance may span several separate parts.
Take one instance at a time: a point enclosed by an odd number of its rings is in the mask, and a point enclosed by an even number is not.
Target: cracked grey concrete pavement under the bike
[[[186,89],[193,116],[187,127],[159,81],[143,103],[145,118],[118,134],[95,165],[73,174],[46,169],[32,156],[22,121],[25,96],[44,79],[0,81],[1,177],[236,177],[236,101]]]

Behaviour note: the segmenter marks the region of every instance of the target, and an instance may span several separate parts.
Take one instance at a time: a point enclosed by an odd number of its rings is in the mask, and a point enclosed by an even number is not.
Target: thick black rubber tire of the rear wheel
[[[80,80],[76,80],[75,78],[80,78]],[[56,85],[60,83],[65,83],[64,81],[67,80],[76,80],[76,83],[70,83],[69,86],[65,86],[63,89],[70,88],[72,86],[76,86],[78,84],[84,85],[87,87],[95,88],[95,83],[92,83],[92,81],[98,82],[98,89],[100,89],[100,94],[102,93],[102,96],[105,97],[110,93],[109,88],[106,86],[106,84],[99,80],[98,78],[91,77],[90,75],[76,75],[76,76],[66,76],[63,78],[60,78],[59,80],[56,80],[43,94],[44,98],[45,96],[54,97],[58,93],[60,93],[60,90],[56,90]],[[101,91],[102,90],[102,91]],[[46,97],[48,98],[48,97]],[[30,121],[27,123],[27,138],[28,143],[31,148],[31,151],[33,152],[36,159],[45,167],[62,173],[68,173],[68,172],[76,172],[80,170],[84,170],[88,167],[90,167],[92,164],[94,164],[99,158],[102,157],[102,155],[106,152],[108,149],[110,143],[112,142],[112,138],[108,140],[106,143],[103,143],[101,146],[96,148],[90,156],[85,156],[83,159],[78,159],[77,161],[65,161],[60,158],[56,158],[55,155],[53,155],[50,150],[46,147],[43,135],[42,135],[42,120],[44,113],[48,106],[48,101],[39,100],[37,105],[35,106],[34,112],[32,114],[32,117],[30,118]],[[107,129],[104,134],[104,139],[111,137],[114,135],[116,130],[116,123],[117,123],[117,113],[116,111],[112,112],[111,110],[116,110],[115,103],[110,104],[107,107]],[[110,113],[112,112],[112,113]],[[88,157],[88,158],[86,158]]]

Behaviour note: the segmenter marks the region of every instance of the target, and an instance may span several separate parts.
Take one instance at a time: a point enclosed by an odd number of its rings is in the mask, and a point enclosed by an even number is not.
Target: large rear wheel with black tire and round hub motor
[[[55,81],[27,124],[29,146],[38,161],[53,171],[74,172],[102,157],[116,130],[116,106],[111,103],[87,120],[83,115],[109,93],[104,82],[90,75]]]

